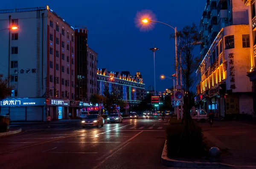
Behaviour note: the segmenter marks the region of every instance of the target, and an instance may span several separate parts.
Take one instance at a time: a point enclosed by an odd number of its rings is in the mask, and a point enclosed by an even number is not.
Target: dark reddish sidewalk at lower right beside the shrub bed
[[[221,162],[234,166],[256,168],[256,126],[236,121],[198,123],[208,146],[221,149]]]

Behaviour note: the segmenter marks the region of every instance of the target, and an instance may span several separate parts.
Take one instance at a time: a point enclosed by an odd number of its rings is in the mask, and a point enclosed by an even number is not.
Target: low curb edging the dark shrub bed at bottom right
[[[225,163],[216,163],[216,162],[199,162],[199,161],[181,161],[181,160],[174,160],[167,157],[167,144],[163,146],[163,152],[161,161],[165,166],[172,166],[172,167],[186,167],[186,168],[221,168],[221,167],[234,167],[233,165],[225,164]]]

